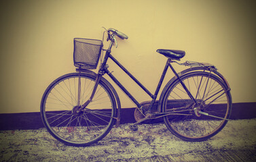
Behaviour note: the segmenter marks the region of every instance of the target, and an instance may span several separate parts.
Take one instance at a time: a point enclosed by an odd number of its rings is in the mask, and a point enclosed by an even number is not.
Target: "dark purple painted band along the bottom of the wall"
[[[121,124],[134,123],[134,109],[126,108],[121,111]],[[256,103],[233,103],[231,119],[256,118]],[[161,119],[158,119],[161,121]],[[35,113],[1,113],[0,130],[35,130],[43,128],[41,115]]]

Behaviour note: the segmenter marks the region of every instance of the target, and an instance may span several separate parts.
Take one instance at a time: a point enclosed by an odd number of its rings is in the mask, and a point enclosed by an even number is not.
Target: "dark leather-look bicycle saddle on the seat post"
[[[172,50],[172,49],[158,49],[156,50],[158,53],[170,58],[180,60],[185,56],[185,51],[181,50]]]

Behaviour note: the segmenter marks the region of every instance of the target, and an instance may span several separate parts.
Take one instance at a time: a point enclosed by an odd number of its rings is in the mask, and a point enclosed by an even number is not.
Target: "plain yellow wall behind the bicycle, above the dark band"
[[[75,72],[73,38],[101,39],[102,26],[128,34],[127,41],[118,40],[113,55],[151,92],[166,61],[156,49],[182,49],[187,53],[182,61],[217,66],[230,82],[234,103],[255,102],[254,4],[219,0],[1,1],[0,113],[39,111],[48,84]],[[115,67],[112,70],[134,97],[149,100],[124,73]],[[122,107],[134,107],[118,92]]]

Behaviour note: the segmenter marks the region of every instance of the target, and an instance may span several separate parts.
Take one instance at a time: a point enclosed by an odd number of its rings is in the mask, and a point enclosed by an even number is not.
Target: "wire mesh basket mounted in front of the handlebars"
[[[74,38],[74,65],[77,68],[97,68],[103,42],[96,39]]]

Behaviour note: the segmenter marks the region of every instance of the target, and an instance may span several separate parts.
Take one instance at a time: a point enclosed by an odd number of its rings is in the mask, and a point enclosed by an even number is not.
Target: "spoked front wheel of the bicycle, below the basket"
[[[80,103],[90,98],[95,80],[96,76],[90,74],[67,74],[54,80],[45,90],[41,100],[43,124],[60,142],[88,146],[104,138],[113,127],[115,97],[102,80],[86,109],[77,111]]]

